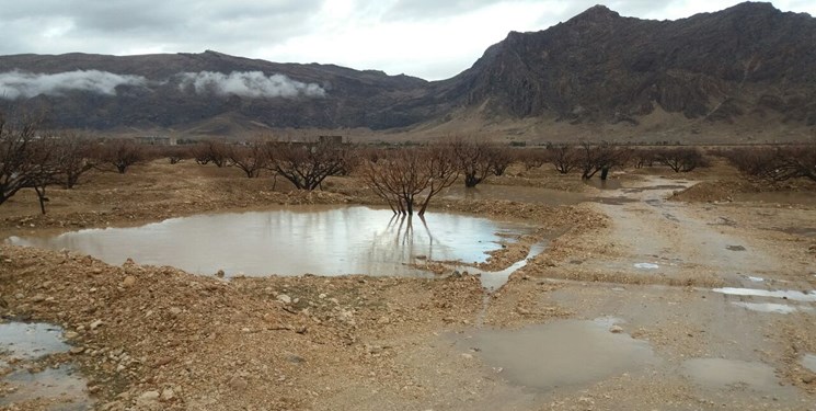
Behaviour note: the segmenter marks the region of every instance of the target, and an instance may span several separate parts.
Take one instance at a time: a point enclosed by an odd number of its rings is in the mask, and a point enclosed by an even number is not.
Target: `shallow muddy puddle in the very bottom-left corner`
[[[0,397],[0,406],[36,400],[37,403],[53,402],[51,407],[38,408],[45,410],[83,411],[93,408],[93,402],[84,391],[88,381],[77,376],[73,368],[68,365],[46,368],[39,373],[16,370],[5,376],[2,381],[16,389]]]

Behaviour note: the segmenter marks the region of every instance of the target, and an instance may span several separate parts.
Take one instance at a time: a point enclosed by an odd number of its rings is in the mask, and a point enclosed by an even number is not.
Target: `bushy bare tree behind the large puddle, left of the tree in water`
[[[330,175],[348,169],[350,146],[332,141],[275,142],[271,168],[298,190],[312,191]]]

